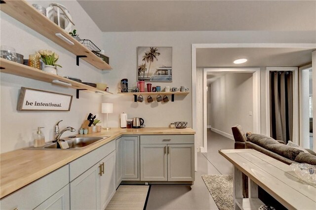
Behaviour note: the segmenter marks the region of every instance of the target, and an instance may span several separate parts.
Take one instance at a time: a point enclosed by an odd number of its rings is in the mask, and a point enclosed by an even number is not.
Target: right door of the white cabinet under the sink
[[[113,151],[100,161],[100,165],[103,168],[103,173],[100,176],[100,203],[102,210],[107,207],[117,189],[115,182],[115,160],[116,152]]]

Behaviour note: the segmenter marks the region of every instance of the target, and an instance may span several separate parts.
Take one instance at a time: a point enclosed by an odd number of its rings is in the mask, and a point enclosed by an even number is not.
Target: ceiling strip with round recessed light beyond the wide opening
[[[312,62],[306,48],[199,48],[197,67],[297,67]],[[244,64],[233,61],[246,58]]]

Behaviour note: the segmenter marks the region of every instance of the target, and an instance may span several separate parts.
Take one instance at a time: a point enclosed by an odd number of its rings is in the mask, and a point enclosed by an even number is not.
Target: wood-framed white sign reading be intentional
[[[73,96],[21,87],[18,111],[70,111]]]

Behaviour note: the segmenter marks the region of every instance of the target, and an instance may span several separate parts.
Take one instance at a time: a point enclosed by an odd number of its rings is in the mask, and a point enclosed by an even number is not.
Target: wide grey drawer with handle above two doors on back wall
[[[194,135],[142,135],[140,144],[194,143]]]

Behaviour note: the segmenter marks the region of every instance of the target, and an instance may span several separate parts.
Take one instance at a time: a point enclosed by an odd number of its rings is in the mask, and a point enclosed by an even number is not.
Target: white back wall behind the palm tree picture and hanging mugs
[[[110,56],[110,64],[113,67],[112,71],[105,73],[105,81],[113,92],[117,92],[122,78],[128,78],[129,86],[136,85],[138,46],[171,46],[173,82],[154,84],[173,87],[186,85],[191,91],[191,45],[193,43],[313,43],[316,41],[314,32],[264,31],[113,32],[103,33],[103,38],[104,49]],[[165,127],[177,120],[188,121],[191,127],[192,93],[186,97],[176,97],[175,100],[167,104],[134,103],[133,97],[117,94],[104,99],[106,102],[115,103],[115,113],[109,115],[111,126],[119,125],[118,115],[125,111],[129,118],[143,117],[146,126],[149,127]]]

